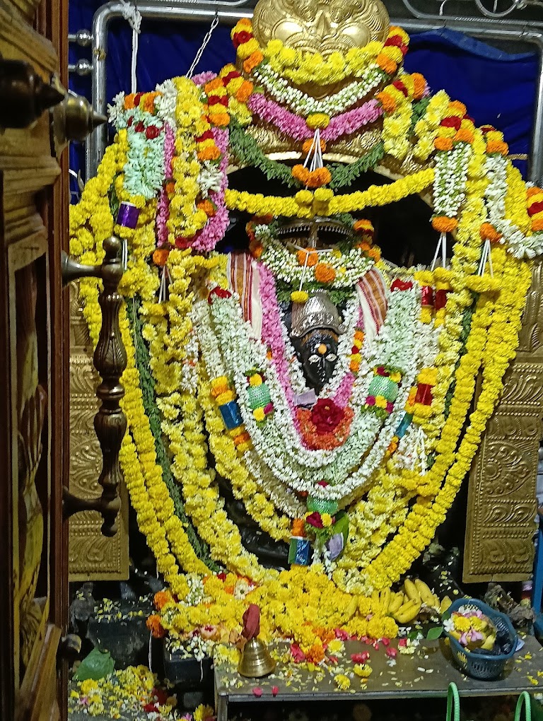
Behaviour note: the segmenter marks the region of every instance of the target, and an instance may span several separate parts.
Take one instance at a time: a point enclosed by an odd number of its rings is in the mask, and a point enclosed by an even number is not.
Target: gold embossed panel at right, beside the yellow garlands
[[[543,265],[524,311],[520,347],[469,477],[464,582],[526,580],[534,562],[543,417]]]

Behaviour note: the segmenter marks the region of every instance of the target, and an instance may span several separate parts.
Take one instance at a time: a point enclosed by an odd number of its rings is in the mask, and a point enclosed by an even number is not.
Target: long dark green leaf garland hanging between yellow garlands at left
[[[140,376],[141,395],[143,397],[145,413],[149,418],[149,426],[151,427],[151,433],[154,438],[156,461],[162,468],[162,479],[167,485],[169,495],[173,501],[175,515],[180,519],[185,527],[190,545],[195,550],[198,558],[203,561],[211,571],[218,572],[220,568],[211,558],[207,544],[200,539],[200,536],[196,533],[193,524],[190,522],[190,519],[185,513],[180,487],[177,485],[173,477],[172,469],[169,463],[169,456],[166,448],[164,447],[164,442],[162,441],[161,418],[159,409],[156,406],[156,393],[154,391],[156,381],[151,375],[151,371],[149,371],[149,349],[147,348],[142,335],[143,327],[139,316],[140,306],[141,302],[139,297],[133,297],[132,301],[128,301],[126,304],[126,314],[128,316],[130,327],[133,331],[136,368],[138,368]]]

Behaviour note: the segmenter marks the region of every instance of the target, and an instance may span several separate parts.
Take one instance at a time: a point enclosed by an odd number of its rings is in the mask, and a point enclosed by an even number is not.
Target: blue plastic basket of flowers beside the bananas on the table
[[[503,647],[509,649],[507,653],[499,653],[496,648],[488,650],[488,653],[485,653],[482,649],[477,649],[474,652],[474,650],[469,650],[469,648],[462,645],[447,629],[447,622],[450,621],[451,616],[454,616],[455,613],[458,614],[461,609],[462,612],[467,611],[468,613],[480,611],[495,628],[496,645],[503,645]],[[491,609],[490,606],[478,601],[477,598],[459,598],[443,614],[443,622],[454,660],[464,673],[467,673],[472,678],[480,678],[486,681],[501,676],[507,661],[513,657],[518,644],[518,636],[511,625],[511,621],[505,614],[500,614],[498,611]]]

